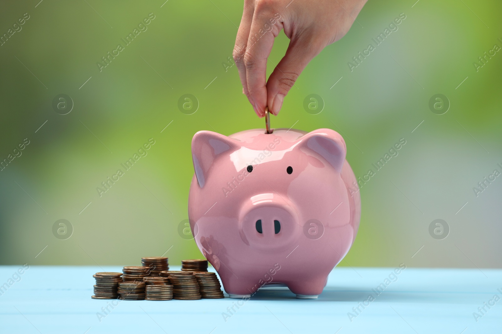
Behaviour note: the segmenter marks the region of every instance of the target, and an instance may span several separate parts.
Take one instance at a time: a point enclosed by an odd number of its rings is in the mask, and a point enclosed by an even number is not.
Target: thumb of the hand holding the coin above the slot
[[[291,40],[286,55],[267,81],[267,106],[272,114],[279,114],[284,97],[295,85],[303,69],[321,50],[322,47],[315,46],[310,37]]]

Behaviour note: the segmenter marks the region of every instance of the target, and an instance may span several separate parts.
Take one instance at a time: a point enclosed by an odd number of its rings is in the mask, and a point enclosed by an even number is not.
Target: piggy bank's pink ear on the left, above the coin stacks
[[[229,155],[240,148],[238,142],[212,131],[199,131],[192,139],[192,159],[199,186],[204,187],[207,172],[220,155]]]

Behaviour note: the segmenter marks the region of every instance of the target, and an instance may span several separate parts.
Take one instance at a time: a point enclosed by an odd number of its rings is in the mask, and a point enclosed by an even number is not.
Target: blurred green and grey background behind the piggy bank
[[[0,264],[132,265],[166,254],[176,265],[202,256],[178,233],[188,218],[191,138],[264,121],[241,93],[236,67],[222,64],[242,2],[164,1],[2,1],[0,34],[29,19],[0,46],[0,159],[30,143],[0,171]],[[361,187],[359,232],[340,265],[502,265],[502,177],[473,191],[502,172],[502,52],[473,66],[502,47],[501,12],[495,0],[369,1],[273,117],[275,128],[340,132],[357,177],[406,140]],[[96,63],[150,13],[148,29],[100,72]],[[398,31],[351,72],[352,57],[401,13]],[[288,43],[284,33],[276,39],[268,74]],[[59,94],[73,101],[66,115],[53,108]],[[178,109],[184,94],[198,101],[191,115]],[[319,114],[303,107],[310,94],[323,100]],[[449,100],[445,114],[429,108],[436,94]],[[150,138],[148,155],[100,197],[96,187]],[[65,240],[53,234],[59,219],[73,226]],[[449,226],[442,240],[429,233],[435,219]]]

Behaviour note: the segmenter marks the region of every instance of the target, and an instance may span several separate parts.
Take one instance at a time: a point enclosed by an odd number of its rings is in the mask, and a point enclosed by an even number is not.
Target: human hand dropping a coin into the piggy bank
[[[233,59],[242,92],[259,117],[276,115],[296,79],[324,47],[341,39],[367,0],[244,0]],[[291,40],[267,81],[267,59],[281,30]]]

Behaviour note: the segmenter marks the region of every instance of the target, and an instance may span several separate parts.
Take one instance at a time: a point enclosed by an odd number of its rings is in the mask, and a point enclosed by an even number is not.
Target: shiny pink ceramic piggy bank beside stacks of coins
[[[199,131],[188,217],[232,298],[265,285],[317,298],[354,242],[360,195],[343,138],[330,129]]]

